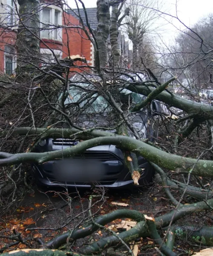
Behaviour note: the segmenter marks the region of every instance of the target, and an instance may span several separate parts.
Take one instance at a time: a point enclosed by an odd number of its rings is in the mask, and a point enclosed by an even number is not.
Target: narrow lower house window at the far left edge
[[[4,59],[5,59],[5,73],[7,75],[12,75],[15,70],[14,53],[15,53],[15,50],[13,46],[9,46],[9,45],[5,46]]]

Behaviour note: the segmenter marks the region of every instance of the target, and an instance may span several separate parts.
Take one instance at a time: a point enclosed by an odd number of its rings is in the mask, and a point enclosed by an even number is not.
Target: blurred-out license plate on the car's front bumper
[[[58,160],[53,165],[56,180],[66,182],[100,181],[106,173],[101,161],[88,159]]]

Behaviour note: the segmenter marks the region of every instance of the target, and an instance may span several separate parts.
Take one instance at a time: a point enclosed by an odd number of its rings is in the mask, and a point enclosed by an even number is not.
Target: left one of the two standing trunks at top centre
[[[100,61],[101,67],[105,67],[107,64],[107,48],[108,48],[107,38],[109,37],[109,20],[110,20],[108,0],[97,1],[97,20],[98,20],[98,31],[96,34],[96,39],[98,42],[99,61]],[[97,58],[97,55],[95,58]]]

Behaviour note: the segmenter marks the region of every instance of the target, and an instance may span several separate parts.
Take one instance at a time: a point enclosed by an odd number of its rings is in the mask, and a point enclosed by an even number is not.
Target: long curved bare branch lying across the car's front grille
[[[125,136],[97,137],[91,140],[83,141],[72,148],[63,149],[63,151],[12,154],[7,158],[0,159],[0,166],[32,162],[42,164],[46,161],[54,160],[57,158],[61,159],[63,157],[73,157],[75,154],[79,154],[88,148],[92,148],[98,145],[116,145],[121,149],[141,155],[148,161],[151,161],[158,166],[177,171],[178,173],[190,171],[193,175],[211,178],[213,177],[213,161],[196,160],[169,154],[142,141]],[[2,154],[5,153],[0,152],[0,158],[3,158]]]

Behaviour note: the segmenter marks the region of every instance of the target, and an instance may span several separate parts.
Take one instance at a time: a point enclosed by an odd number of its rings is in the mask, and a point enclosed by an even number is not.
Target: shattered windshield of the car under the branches
[[[85,88],[87,87],[90,90],[92,89],[92,84],[76,83],[76,85],[77,86],[79,85],[79,86],[85,87]],[[87,113],[100,113],[103,111],[104,112],[111,111],[111,107],[109,106],[106,99],[104,99],[104,97],[102,97],[102,96],[98,96],[97,93],[95,93],[92,96],[87,98],[86,96],[88,96],[88,93],[83,91],[80,88],[75,87],[75,86],[69,87],[69,93],[70,93],[70,95],[66,98],[66,100],[64,102],[65,105],[69,105],[72,103],[79,103],[80,108],[86,106]],[[127,96],[131,95],[133,104],[138,104],[139,102],[141,102],[141,99],[144,99],[143,95],[140,95],[138,93],[133,93],[127,89],[120,90],[120,93],[127,95]],[[84,97],[85,97],[85,99],[83,99]]]

